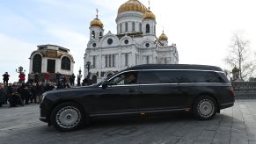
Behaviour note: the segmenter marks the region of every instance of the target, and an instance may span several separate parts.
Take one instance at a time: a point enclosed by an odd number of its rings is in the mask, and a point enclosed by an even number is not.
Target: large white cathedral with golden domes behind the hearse
[[[84,66],[91,62],[90,79],[99,82],[124,68],[139,64],[179,63],[176,44],[168,45],[163,33],[157,38],[156,16],[138,0],[128,0],[118,10],[117,34],[104,33],[103,23],[96,18],[90,23],[90,40],[84,54]],[[88,75],[84,67],[84,76]]]

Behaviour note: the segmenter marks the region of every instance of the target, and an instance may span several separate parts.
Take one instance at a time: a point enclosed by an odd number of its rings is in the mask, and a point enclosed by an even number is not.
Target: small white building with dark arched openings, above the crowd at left
[[[33,51],[30,56],[29,73],[50,73],[54,75],[59,72],[62,75],[73,74],[74,59],[69,54],[69,49],[55,45],[41,45]]]

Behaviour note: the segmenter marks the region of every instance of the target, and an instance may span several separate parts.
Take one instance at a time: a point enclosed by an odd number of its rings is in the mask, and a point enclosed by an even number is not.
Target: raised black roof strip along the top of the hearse
[[[143,64],[127,68],[125,70],[138,70],[138,69],[200,69],[200,70],[214,70],[223,71],[222,68],[207,65],[194,65],[194,64]]]

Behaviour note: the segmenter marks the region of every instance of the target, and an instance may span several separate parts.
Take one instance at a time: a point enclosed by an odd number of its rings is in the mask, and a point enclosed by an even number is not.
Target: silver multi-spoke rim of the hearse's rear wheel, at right
[[[212,116],[215,111],[215,105],[209,99],[202,99],[197,105],[197,111],[203,118]]]

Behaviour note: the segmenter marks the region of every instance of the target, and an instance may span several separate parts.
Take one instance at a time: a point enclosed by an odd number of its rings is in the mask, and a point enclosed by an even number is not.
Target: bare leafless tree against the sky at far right
[[[225,61],[232,67],[239,68],[239,79],[244,81],[252,74],[256,65],[252,61],[252,53],[249,49],[249,41],[244,40],[239,34],[234,34],[230,46],[230,55]]]

